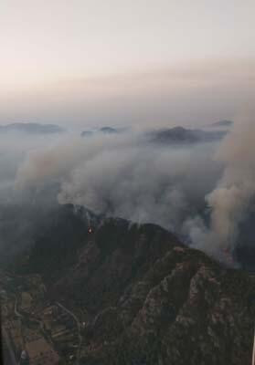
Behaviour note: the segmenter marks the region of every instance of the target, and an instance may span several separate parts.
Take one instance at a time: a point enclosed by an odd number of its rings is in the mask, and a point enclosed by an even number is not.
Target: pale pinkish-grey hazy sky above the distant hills
[[[253,0],[3,0],[0,123],[204,123],[252,103]]]

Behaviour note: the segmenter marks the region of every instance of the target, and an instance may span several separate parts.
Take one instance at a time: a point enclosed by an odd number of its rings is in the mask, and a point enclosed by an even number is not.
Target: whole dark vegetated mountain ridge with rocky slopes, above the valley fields
[[[42,275],[53,301],[86,308],[80,363],[250,364],[254,278],[154,224],[88,220],[72,206],[49,221],[17,271]]]

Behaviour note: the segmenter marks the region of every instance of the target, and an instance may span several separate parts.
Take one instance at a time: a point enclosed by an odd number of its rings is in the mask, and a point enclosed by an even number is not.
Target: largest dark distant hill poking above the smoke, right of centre
[[[218,141],[226,135],[225,130],[191,130],[175,127],[163,130],[153,130],[148,133],[150,141],[165,144],[190,144],[208,141]]]

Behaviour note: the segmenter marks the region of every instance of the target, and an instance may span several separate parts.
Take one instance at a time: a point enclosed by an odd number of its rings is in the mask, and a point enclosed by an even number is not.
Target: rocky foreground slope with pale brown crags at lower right
[[[95,360],[249,364],[253,296],[250,277],[175,246],[120,297],[112,310],[112,324],[118,323],[119,328],[113,340],[113,329],[103,326],[111,322],[107,308],[100,312],[101,344],[112,342],[94,350]],[[90,343],[98,346],[99,338],[97,323],[91,323]]]

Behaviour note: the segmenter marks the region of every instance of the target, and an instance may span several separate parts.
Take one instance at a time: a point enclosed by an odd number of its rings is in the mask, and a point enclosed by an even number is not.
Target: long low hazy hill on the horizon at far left
[[[28,134],[62,133],[65,130],[56,124],[12,123],[0,126],[0,133],[22,132]]]

